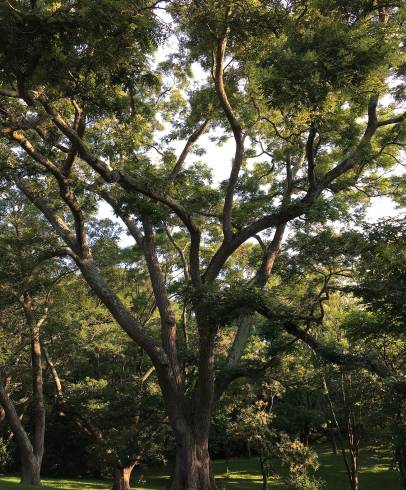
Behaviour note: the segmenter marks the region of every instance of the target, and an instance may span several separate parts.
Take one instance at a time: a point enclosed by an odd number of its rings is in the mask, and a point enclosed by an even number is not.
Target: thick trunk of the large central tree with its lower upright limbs
[[[126,222],[127,224],[127,222]],[[213,490],[214,476],[208,451],[208,436],[214,398],[214,340],[217,325],[207,318],[207,307],[196,299],[195,313],[199,331],[198,378],[194,393],[185,394],[184,380],[176,349],[176,322],[160,271],[152,227],[143,217],[144,237],[133,230],[144,249],[154,296],[161,316],[162,347],[145,334],[143,328],[111,290],[96,264],[77,260],[77,265],[94,293],[103,301],[115,320],[151,358],[176,440],[176,462],[171,490]]]

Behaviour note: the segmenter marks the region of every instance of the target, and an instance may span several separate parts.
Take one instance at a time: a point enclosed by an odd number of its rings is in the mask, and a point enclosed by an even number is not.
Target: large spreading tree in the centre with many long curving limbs
[[[179,46],[154,68],[149,55],[165,40],[164,7]],[[208,448],[215,394],[250,368],[243,354],[254,310],[332,362],[392,377],[368,356],[324,348],[301,328],[303,318],[288,312],[281,322],[286,309],[268,299],[288,223],[304,217],[322,226],[365,196],[392,192],[384,173],[404,144],[405,114],[397,110],[404,7],[362,0],[0,6],[2,175],[41,210],[61,252],[150,357],[176,439],[172,489],[215,487]],[[196,61],[207,79],[192,85]],[[235,142],[219,186],[203,164],[186,165],[209,127]],[[174,139],[184,140],[178,157]],[[144,255],[159,337],[92,253],[88,227],[100,200]],[[260,245],[244,261],[251,239]],[[169,243],[181,280],[167,270]],[[235,339],[224,356],[220,333],[230,322]]]

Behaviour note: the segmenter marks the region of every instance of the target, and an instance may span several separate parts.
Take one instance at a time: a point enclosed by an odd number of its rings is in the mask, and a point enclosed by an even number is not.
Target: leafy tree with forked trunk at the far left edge
[[[6,353],[0,378],[0,403],[16,439],[21,461],[21,482],[40,483],[44,456],[45,400],[41,330],[55,284],[69,269],[58,257],[52,240],[46,239],[47,227],[36,208],[21,200],[19,193],[2,189],[0,209],[1,247],[1,323]],[[9,324],[8,324],[9,323]],[[26,355],[31,357],[33,429],[31,437],[9,396],[14,383],[12,372]],[[10,386],[11,385],[11,386]],[[25,396],[25,393],[23,393]]]

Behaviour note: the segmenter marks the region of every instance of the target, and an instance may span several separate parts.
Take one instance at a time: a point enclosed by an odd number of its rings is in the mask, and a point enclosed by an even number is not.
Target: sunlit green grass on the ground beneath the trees
[[[340,455],[333,455],[326,449],[319,449],[319,478],[326,481],[327,490],[347,490],[347,476]],[[361,490],[400,490],[399,475],[389,469],[390,458],[384,451],[362,451],[360,456],[360,487]],[[228,471],[227,471],[228,469]],[[219,490],[261,490],[261,477],[256,458],[233,458],[228,461],[214,462],[214,470]],[[134,490],[161,490],[167,482],[167,469],[135,473]],[[142,476],[145,483],[138,484]],[[0,490],[31,490],[34,487],[20,485],[18,478],[0,476]],[[111,488],[109,481],[95,480],[56,480],[43,479],[46,490],[107,490]],[[271,490],[285,490],[286,487],[278,478],[270,481]]]

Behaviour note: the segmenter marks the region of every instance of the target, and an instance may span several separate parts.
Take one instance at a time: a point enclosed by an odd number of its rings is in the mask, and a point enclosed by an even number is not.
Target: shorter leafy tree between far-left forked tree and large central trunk
[[[104,243],[98,244],[105,250],[106,258],[111,251],[110,240],[101,234]],[[126,253],[128,251],[123,253],[122,267],[112,268],[106,260],[104,271],[109,274],[110,269],[110,274],[114,274],[111,281],[122,283],[121,291],[128,305],[134,307],[144,301],[146,312],[140,321],[154,324],[157,321],[151,315],[154,305],[146,301],[148,296],[151,298],[148,288],[133,291],[127,286],[128,275],[139,274],[141,282],[142,273],[125,269]],[[60,444],[61,430],[69,431],[73,427],[80,435],[79,441],[72,441],[72,444],[85,444],[82,458],[86,462],[77,462],[78,467],[69,471],[113,476],[113,489],[127,490],[134,469],[165,462],[173,445],[154,368],[143,352],[118,329],[104,305],[89,295],[80,278],[75,278],[73,284],[62,283],[60,287],[60,303],[54,304],[49,318],[50,339],[46,349],[51,371],[49,390],[54,393],[57,414],[52,444]],[[61,328],[62,325],[66,328]],[[66,418],[70,429],[59,427]],[[54,451],[53,463],[48,464],[56,466],[63,458],[57,446]],[[57,471],[63,474],[64,468]]]

